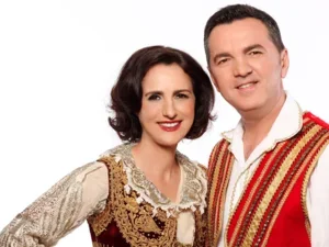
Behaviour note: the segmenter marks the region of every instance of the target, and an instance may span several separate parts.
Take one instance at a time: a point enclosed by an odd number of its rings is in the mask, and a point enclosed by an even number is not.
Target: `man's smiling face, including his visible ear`
[[[208,38],[209,71],[217,88],[240,114],[271,111],[284,94],[286,49],[279,52],[257,19],[217,25]]]

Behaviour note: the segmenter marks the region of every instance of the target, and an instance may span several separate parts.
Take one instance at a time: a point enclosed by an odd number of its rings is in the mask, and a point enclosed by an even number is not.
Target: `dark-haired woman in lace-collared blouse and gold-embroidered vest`
[[[177,151],[212,120],[214,91],[188,54],[137,50],[111,92],[125,142],[78,168],[0,234],[5,247],[54,246],[86,220],[93,246],[203,246],[205,170]]]

